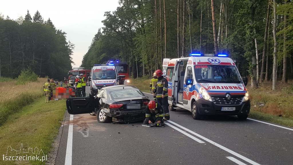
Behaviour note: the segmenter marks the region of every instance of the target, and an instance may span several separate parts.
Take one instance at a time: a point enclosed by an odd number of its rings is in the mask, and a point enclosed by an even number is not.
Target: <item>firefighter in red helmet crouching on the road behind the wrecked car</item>
[[[155,127],[164,127],[164,111],[158,102],[151,100],[146,107],[146,118],[143,124],[154,124]]]

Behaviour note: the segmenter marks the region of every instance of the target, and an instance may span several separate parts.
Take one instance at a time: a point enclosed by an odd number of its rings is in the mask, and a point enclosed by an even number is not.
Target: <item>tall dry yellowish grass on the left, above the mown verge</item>
[[[0,126],[8,117],[17,113],[23,106],[30,104],[44,95],[45,78],[38,78],[36,82],[16,85],[16,81],[0,83]],[[44,100],[45,101],[45,100]]]

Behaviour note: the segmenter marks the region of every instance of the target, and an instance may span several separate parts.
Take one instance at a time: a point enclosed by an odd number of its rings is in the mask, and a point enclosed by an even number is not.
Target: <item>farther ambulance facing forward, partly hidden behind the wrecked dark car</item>
[[[115,66],[106,64],[96,64],[91,69],[91,76],[88,78],[91,95],[95,96],[103,87],[119,85],[120,76]]]

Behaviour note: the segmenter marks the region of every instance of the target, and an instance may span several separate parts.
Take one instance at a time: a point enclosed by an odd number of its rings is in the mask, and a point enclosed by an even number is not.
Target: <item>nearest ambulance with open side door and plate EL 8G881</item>
[[[166,62],[167,61],[167,62]],[[202,115],[236,115],[246,119],[249,94],[234,61],[225,54],[190,54],[166,59],[169,110],[183,108],[193,119]]]

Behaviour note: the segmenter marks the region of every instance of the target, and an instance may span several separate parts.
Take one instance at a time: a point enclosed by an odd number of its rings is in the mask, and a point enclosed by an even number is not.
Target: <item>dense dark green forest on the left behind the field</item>
[[[39,11],[29,11],[16,20],[0,14],[0,77],[16,78],[23,69],[41,77],[62,80],[71,70],[74,44],[58,30],[50,18],[44,21]]]

